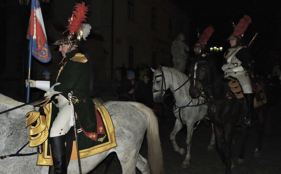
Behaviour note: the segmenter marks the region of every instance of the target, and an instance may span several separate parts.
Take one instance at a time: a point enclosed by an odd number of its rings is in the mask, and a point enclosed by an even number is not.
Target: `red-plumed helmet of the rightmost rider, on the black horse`
[[[244,15],[242,19],[240,19],[239,23],[234,26],[233,33],[229,36],[227,40],[240,39],[243,37],[244,32],[247,30],[249,24],[251,24],[251,17],[248,15]]]

